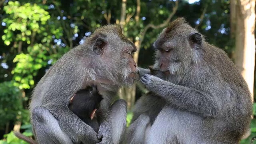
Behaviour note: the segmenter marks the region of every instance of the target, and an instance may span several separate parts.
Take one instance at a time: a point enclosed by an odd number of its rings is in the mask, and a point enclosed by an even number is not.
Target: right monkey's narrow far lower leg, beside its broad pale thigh
[[[145,144],[150,127],[149,116],[141,114],[127,130],[127,144]]]

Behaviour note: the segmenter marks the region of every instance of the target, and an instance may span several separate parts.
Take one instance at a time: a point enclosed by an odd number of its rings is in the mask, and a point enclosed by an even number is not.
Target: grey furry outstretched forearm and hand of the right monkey
[[[209,93],[172,84],[149,74],[145,74],[141,82],[148,90],[177,108],[198,113],[204,117],[216,117],[220,112],[218,101]]]

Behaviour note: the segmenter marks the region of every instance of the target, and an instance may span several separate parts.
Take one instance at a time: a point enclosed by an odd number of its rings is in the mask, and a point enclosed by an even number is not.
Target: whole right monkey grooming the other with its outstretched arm
[[[137,68],[150,93],[135,104],[128,139],[145,114],[152,124],[146,144],[238,144],[250,125],[252,101],[224,50],[206,42],[185,18],[164,28],[153,47],[158,72]]]

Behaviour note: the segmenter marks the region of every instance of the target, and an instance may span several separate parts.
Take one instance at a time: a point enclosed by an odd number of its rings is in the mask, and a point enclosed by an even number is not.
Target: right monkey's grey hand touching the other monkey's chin
[[[144,74],[144,76],[140,78],[140,82],[144,84],[148,90],[151,90],[151,88],[154,87],[155,84],[161,83],[163,81],[164,80],[151,74]]]

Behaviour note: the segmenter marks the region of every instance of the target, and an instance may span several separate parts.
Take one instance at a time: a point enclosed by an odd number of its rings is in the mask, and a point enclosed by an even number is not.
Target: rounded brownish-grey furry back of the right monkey
[[[215,96],[221,107],[217,118],[204,118],[203,133],[213,142],[218,137],[217,143],[238,143],[250,125],[250,91],[246,81],[223,50],[208,43],[204,48],[205,71],[200,76],[194,76],[203,77],[197,84]]]

